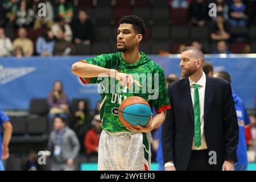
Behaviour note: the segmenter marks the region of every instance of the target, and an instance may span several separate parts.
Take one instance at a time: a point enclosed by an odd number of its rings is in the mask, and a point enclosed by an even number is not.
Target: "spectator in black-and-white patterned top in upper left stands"
[[[35,11],[27,6],[25,0],[22,0],[16,14],[15,24],[17,27],[32,27],[34,25],[35,16]]]

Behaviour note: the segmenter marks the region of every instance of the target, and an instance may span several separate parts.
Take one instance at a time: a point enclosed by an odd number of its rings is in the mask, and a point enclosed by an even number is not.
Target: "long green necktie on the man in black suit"
[[[201,146],[201,123],[198,85],[194,84],[195,146]]]

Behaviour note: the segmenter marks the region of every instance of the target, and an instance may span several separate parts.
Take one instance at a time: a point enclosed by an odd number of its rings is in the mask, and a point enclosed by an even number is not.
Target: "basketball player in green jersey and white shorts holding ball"
[[[81,77],[85,84],[101,82],[102,133],[98,146],[98,170],[148,170],[151,164],[149,132],[162,125],[166,118],[166,109],[170,109],[163,68],[139,52],[139,43],[145,35],[145,24],[135,15],[123,16],[117,30],[117,53],[99,55],[92,59],[79,61],[72,65],[72,72]],[[132,75],[152,74],[146,80],[135,79]],[[101,74],[101,75],[100,75]],[[103,76],[102,76],[103,75]],[[156,77],[157,78],[156,78]],[[107,77],[109,81],[102,81]],[[111,91],[106,85],[122,85],[122,92]],[[104,82],[104,83],[103,83]],[[144,88],[154,83],[156,98],[150,99],[152,92],[143,93]],[[157,84],[156,84],[157,83]],[[130,92],[134,86],[139,93]],[[112,85],[113,88],[113,85]],[[129,90],[128,90],[129,88]],[[155,93],[154,93],[155,94]],[[144,98],[158,114],[151,117],[148,124],[139,129],[125,127],[119,121],[118,108],[125,98],[139,96]]]

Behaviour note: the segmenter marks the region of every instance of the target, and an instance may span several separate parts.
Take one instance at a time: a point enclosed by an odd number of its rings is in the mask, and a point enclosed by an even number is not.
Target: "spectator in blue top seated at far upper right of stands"
[[[233,0],[233,3],[229,8],[229,16],[229,22],[232,27],[246,26],[246,5],[242,2],[242,0]]]

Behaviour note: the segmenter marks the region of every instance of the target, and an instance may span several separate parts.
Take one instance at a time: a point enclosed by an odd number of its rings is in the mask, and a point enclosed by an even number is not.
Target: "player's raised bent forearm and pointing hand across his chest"
[[[82,63],[81,61],[74,63],[72,65],[72,73],[84,78],[91,77],[114,77],[117,79],[123,86],[129,86],[130,84],[136,84],[139,87],[142,87],[136,80],[133,79],[131,75],[126,73],[119,73],[114,69],[102,68],[97,65]]]

